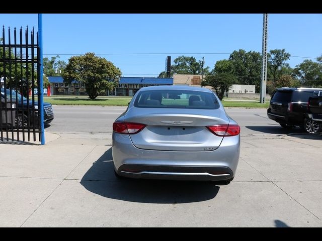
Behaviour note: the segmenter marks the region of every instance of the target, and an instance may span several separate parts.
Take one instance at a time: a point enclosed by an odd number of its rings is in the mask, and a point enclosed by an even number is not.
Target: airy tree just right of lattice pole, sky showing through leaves
[[[290,70],[287,60],[290,59],[290,54],[285,52],[285,49],[273,49],[268,54],[268,69],[269,77],[273,81],[277,80],[282,74],[288,74],[287,70]]]

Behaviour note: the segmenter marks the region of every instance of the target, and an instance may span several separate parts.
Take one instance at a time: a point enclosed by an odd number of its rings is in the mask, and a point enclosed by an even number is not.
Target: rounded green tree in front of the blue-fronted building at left
[[[85,83],[90,99],[94,100],[102,90],[112,90],[121,74],[121,70],[112,62],[97,57],[94,53],[86,53],[71,57],[62,77],[68,84],[73,80]]]

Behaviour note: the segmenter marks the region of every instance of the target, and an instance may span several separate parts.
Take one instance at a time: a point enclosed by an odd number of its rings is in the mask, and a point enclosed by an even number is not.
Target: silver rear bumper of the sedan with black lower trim
[[[235,175],[240,137],[225,137],[214,151],[157,151],[136,148],[128,135],[113,133],[115,171],[131,178],[223,181]]]

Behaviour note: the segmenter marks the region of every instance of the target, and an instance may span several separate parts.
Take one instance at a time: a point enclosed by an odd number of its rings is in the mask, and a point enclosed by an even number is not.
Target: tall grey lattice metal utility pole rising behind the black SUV
[[[261,97],[260,97],[260,103],[262,104],[265,104],[266,83],[267,83],[267,24],[268,24],[268,14],[264,14],[263,15],[263,45],[262,45],[263,66],[262,66]]]

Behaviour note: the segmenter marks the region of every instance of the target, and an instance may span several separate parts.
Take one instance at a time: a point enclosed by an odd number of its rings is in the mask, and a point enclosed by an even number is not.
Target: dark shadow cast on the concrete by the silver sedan
[[[85,173],[81,184],[107,198],[141,203],[190,203],[213,199],[219,188],[212,182],[116,178],[112,148]]]

